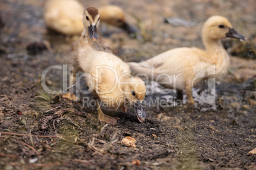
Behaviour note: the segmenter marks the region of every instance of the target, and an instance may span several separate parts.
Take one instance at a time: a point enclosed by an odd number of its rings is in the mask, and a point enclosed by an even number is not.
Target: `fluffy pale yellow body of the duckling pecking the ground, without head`
[[[118,108],[124,103],[124,93],[120,91],[118,81],[122,75],[131,75],[127,63],[120,58],[104,51],[97,51],[90,46],[87,53],[79,55],[78,63],[85,73],[87,85],[91,91],[109,107]]]

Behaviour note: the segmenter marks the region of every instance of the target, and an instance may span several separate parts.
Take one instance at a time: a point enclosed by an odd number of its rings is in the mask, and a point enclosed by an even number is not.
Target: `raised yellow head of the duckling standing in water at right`
[[[245,39],[245,36],[234,30],[229,20],[223,16],[211,16],[208,18],[204,23],[202,34],[203,41],[218,41],[225,37]]]

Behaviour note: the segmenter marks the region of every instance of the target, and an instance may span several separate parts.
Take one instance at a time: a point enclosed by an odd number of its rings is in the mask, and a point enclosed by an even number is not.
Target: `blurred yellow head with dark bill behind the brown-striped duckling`
[[[108,5],[99,8],[101,13],[101,20],[113,25],[115,27],[120,27],[124,29],[128,34],[136,32],[134,27],[131,27],[127,22],[125,22],[124,10],[115,5]]]

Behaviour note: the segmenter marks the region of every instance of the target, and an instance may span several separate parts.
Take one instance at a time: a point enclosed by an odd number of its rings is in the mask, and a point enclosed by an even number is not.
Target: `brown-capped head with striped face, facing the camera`
[[[88,29],[88,34],[92,41],[99,38],[97,27],[99,27],[99,11],[97,8],[89,7],[83,13],[83,25]]]

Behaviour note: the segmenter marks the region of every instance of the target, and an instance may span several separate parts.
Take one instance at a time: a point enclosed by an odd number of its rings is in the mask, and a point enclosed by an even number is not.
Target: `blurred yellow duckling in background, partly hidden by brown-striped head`
[[[76,0],[48,0],[44,10],[45,24],[49,29],[62,34],[81,34],[83,31],[83,10],[83,5]],[[136,32],[136,29],[125,22],[124,11],[118,6],[103,6],[99,8],[99,12],[102,22],[120,27],[128,34]]]

